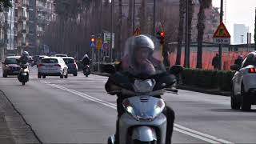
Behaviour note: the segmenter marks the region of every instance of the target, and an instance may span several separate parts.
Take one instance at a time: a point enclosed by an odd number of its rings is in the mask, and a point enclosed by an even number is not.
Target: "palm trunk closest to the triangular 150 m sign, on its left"
[[[198,56],[197,56],[197,68],[202,69],[202,41],[203,41],[203,34],[205,30],[205,9],[203,4],[200,4],[200,9],[198,13]]]

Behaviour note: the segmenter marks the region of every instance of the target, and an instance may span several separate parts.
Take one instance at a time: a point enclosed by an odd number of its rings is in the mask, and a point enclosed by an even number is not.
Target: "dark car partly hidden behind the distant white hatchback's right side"
[[[72,57],[63,57],[62,58],[64,62],[66,63],[66,66],[68,66],[68,74],[73,74],[74,76],[78,76],[78,65],[74,61],[74,58]]]

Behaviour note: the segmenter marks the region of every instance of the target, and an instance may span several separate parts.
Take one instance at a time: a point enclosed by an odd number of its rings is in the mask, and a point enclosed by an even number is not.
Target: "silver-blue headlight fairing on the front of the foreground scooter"
[[[165,102],[151,96],[126,98],[122,102],[126,112],[137,121],[153,121],[165,108]]]

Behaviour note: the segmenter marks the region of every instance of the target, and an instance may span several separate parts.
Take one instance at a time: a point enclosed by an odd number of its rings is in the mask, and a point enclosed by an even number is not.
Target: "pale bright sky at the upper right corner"
[[[213,0],[214,7],[220,7],[221,0]],[[224,0],[225,6],[225,0]],[[245,24],[250,27],[252,43],[254,43],[254,20],[256,0],[226,0],[226,28],[231,35],[231,43],[234,41],[234,23]],[[225,12],[223,20],[225,18]]]

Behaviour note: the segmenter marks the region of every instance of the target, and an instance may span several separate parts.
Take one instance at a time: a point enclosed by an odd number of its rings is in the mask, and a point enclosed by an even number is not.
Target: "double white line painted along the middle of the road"
[[[58,88],[58,89],[61,89],[61,90],[65,90],[67,92],[70,92],[72,94],[76,94],[82,98],[86,98],[90,101],[93,101],[93,102],[98,102],[99,104],[102,104],[104,106],[108,106],[110,108],[113,108],[114,110],[116,110],[116,104],[114,103],[110,103],[110,102],[106,102],[106,101],[103,101],[101,99],[98,99],[98,98],[94,98],[88,94],[84,94],[84,93],[81,93],[79,91],[76,91],[76,90],[71,90],[71,89],[68,89],[66,87],[63,87],[63,86],[58,86],[58,85],[55,85],[55,84],[51,84],[50,82],[45,82],[45,81],[42,81],[42,83],[46,83],[47,85],[49,86],[53,86],[55,88]],[[182,134],[187,134],[187,135],[190,135],[191,137],[194,137],[194,138],[198,138],[198,139],[201,139],[202,141],[205,141],[205,142],[210,142],[210,143],[234,143],[234,142],[229,142],[229,141],[226,141],[225,139],[222,139],[222,138],[217,138],[217,137],[214,137],[210,134],[204,134],[202,132],[199,132],[197,130],[192,130],[192,129],[189,129],[189,128],[186,128],[185,126],[181,126],[181,125],[178,125],[176,123],[174,123],[174,130],[182,133]]]

